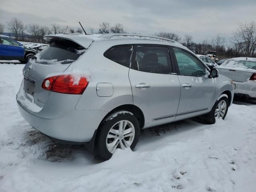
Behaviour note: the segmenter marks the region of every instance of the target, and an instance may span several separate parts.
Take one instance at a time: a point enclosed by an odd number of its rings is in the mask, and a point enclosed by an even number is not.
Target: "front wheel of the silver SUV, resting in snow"
[[[220,112],[219,108],[224,106],[224,103],[226,104],[226,109],[224,112],[223,110],[222,112]],[[200,116],[200,119],[202,120],[203,123],[206,123],[206,124],[214,124],[216,122],[216,118],[225,119],[226,114],[228,112],[228,106],[229,106],[228,98],[226,96],[223,96],[215,102],[214,106],[212,107],[212,110],[209,113]]]

